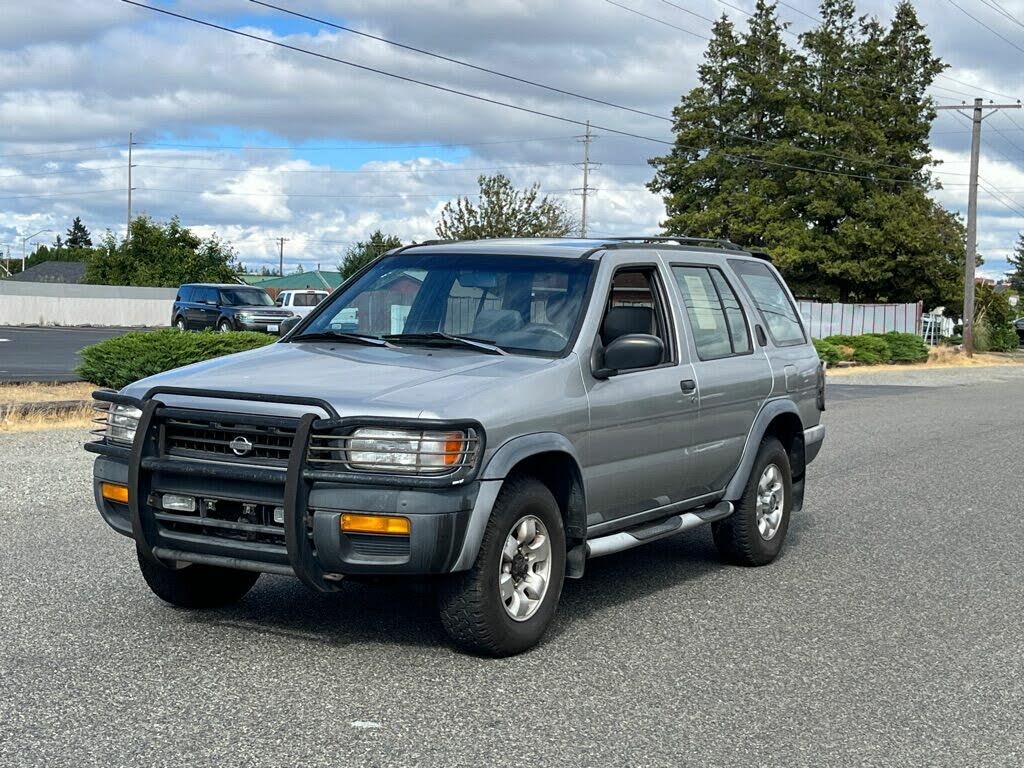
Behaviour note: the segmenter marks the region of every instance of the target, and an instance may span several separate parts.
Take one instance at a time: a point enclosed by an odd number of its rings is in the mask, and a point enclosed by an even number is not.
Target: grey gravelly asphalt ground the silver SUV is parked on
[[[1021,765],[1024,367],[836,382],[776,563],[594,561],[503,660],[426,588],[164,605],[85,435],[0,435],[0,765]]]

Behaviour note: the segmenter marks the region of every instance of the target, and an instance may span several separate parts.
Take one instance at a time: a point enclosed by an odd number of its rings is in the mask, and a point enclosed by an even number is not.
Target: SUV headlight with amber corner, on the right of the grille
[[[345,443],[346,463],[372,472],[443,474],[475,461],[476,438],[462,431],[356,429]]]

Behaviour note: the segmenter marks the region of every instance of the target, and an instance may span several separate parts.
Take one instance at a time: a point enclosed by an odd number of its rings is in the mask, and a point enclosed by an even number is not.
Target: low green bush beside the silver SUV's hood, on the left
[[[258,333],[182,333],[164,329],[128,333],[82,350],[78,375],[100,387],[121,389],[133,381],[191,362],[256,349],[275,341]]]

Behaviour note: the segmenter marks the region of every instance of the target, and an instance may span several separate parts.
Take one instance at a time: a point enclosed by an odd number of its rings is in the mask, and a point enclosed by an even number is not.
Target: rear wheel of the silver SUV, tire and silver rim
[[[792,509],[790,456],[781,442],[766,437],[735,512],[712,526],[718,551],[739,565],[770,563],[782,549]]]

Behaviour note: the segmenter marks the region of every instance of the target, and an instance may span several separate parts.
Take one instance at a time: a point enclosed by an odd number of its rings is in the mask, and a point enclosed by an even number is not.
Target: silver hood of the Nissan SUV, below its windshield
[[[327,400],[343,416],[415,417],[483,390],[517,386],[558,362],[564,360],[443,347],[275,343],[158,374],[124,391],[141,397],[153,387],[168,386],[310,397]]]

